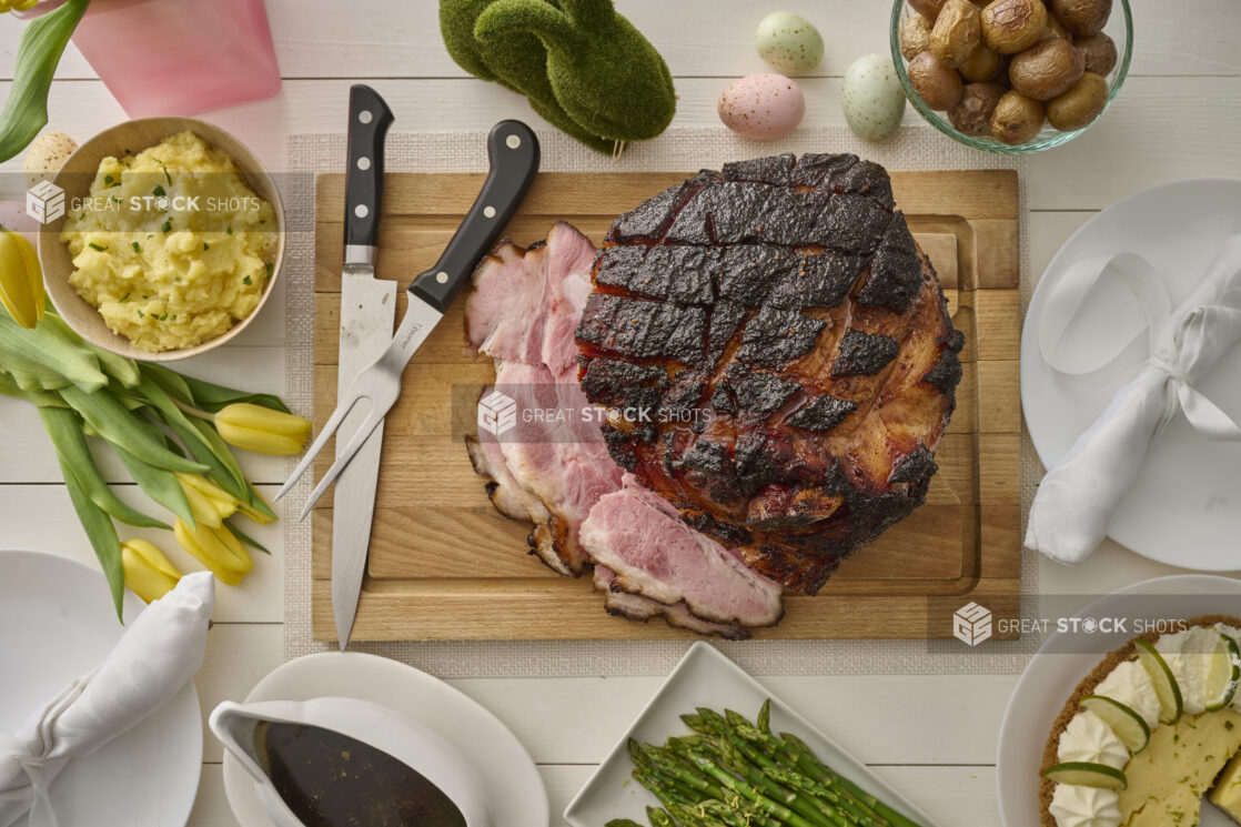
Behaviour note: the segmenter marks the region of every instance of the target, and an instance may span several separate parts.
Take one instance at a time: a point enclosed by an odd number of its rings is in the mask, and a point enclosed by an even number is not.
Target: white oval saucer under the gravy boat
[[[246,703],[357,698],[403,715],[453,744],[478,771],[495,827],[547,827],[547,790],[517,738],[473,698],[413,667],[360,652],[289,661],[258,682]],[[274,827],[254,781],[225,752],[225,792],[242,827]]]

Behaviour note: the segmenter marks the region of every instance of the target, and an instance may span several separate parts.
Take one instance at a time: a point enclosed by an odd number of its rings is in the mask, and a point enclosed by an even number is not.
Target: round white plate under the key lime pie
[[[1150,596],[1136,600],[1136,595]],[[1078,616],[1133,617],[1133,621],[1241,613],[1241,580],[1211,575],[1174,575],[1144,580],[1112,592]],[[1047,638],[1018,680],[1000,725],[995,786],[1004,827],[1039,827],[1039,766],[1051,724],[1069,695],[1103,656],[1132,636],[1118,636],[1096,651],[1066,653],[1062,637]],[[1106,648],[1104,648],[1106,647]],[[1231,822],[1212,807],[1203,808],[1201,827]]]

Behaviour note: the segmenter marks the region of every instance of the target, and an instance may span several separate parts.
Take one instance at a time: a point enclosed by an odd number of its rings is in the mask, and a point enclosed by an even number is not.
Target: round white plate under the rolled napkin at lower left
[[[145,608],[125,592],[125,622]],[[124,633],[103,574],[58,554],[0,551],[0,731],[20,728]],[[141,724],[52,782],[61,827],[179,827],[202,774],[202,714],[190,683]],[[25,827],[26,817],[17,822]]]

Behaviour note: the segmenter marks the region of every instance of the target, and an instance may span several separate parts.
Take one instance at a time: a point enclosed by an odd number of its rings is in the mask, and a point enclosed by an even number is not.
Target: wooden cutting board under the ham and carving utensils
[[[527,246],[556,219],[598,242],[612,220],[688,174],[544,173],[508,235]],[[379,277],[401,286],[429,268],[474,200],[477,174],[390,174]],[[764,638],[949,637],[970,601],[1019,590],[1018,179],[1010,170],[892,173],[897,205],[927,250],[965,333],[957,411],[927,503],[845,561],[818,597],[791,595]],[[335,407],[344,175],[316,180],[315,421]],[[465,296],[414,355],[388,414],[370,563],[354,639],[666,638],[663,621],[611,617],[589,577],[562,577],[526,554],[527,523],[491,507],[462,440],[490,359],[464,350]],[[464,411],[464,414],[463,414]],[[316,473],[333,456],[325,450]],[[331,497],[314,510],[314,635],[335,639]]]

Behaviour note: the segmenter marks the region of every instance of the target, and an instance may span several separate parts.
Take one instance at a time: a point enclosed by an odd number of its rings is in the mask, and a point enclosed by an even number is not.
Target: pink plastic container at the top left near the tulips
[[[263,0],[93,0],[73,42],[130,118],[194,115],[280,91]]]

